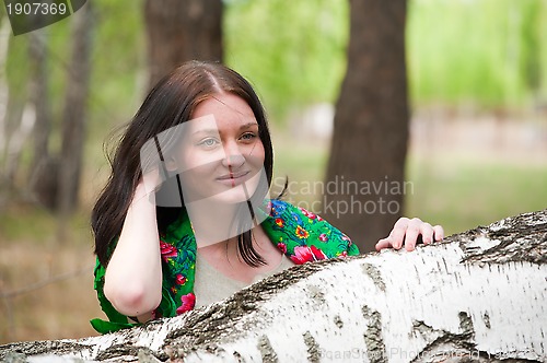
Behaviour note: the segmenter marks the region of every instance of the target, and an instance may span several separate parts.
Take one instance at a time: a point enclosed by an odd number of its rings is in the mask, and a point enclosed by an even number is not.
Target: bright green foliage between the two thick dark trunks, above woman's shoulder
[[[225,7],[226,62],[249,78],[268,110],[335,102],[345,72],[347,1],[249,0]]]

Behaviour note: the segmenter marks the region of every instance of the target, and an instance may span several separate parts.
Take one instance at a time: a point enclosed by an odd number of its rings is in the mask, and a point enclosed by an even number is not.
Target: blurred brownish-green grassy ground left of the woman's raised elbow
[[[83,214],[56,238],[55,218],[28,206],[0,213],[0,343],[93,335],[92,243]]]

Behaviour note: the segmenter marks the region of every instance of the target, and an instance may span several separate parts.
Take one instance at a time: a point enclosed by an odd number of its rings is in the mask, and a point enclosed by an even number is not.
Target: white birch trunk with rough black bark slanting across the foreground
[[[293,267],[131,330],[3,346],[0,359],[545,362],[546,301],[547,210],[412,253]]]

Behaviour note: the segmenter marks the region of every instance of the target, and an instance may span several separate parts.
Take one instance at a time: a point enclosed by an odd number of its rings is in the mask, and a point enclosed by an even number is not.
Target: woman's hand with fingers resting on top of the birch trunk
[[[440,225],[432,226],[418,218],[411,220],[400,218],[393,226],[389,235],[377,242],[376,250],[389,247],[400,249],[403,245],[405,245],[406,250],[414,250],[420,236],[423,244],[428,245],[432,242],[442,241],[444,230]]]

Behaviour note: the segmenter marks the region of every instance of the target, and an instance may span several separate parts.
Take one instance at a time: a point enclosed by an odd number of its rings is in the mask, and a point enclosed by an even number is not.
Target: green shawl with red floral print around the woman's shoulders
[[[358,255],[358,247],[350,238],[321,216],[294,207],[282,200],[270,200],[270,214],[261,226],[270,241],[295,265]],[[196,268],[196,238],[187,213],[181,213],[165,233],[160,236],[162,255],[162,301],[153,312],[153,317],[172,317],[191,311],[196,303],[194,281]],[[94,288],[101,308],[109,321],[91,320],[91,325],[101,333],[130,328],[128,317],[118,313],[106,298],[104,274],[106,268],[98,262],[95,267]]]

